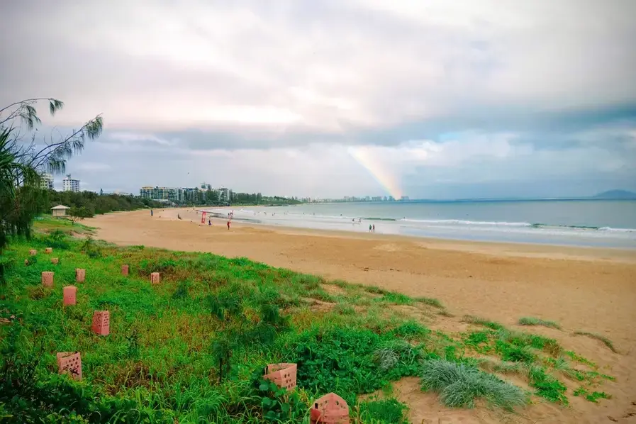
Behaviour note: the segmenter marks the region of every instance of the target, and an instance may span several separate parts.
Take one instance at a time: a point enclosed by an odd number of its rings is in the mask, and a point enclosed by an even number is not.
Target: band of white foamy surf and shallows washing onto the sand
[[[250,225],[266,225],[269,228],[297,228],[302,230],[342,231],[364,234],[367,226],[377,227],[378,234],[401,235],[408,238],[453,240],[455,242],[515,243],[523,245],[552,245],[557,247],[609,248],[636,252],[636,229],[593,227],[589,225],[564,225],[508,221],[480,221],[459,218],[411,219],[379,215],[357,216],[352,211],[337,212],[316,210],[290,210],[276,208],[271,213],[265,208],[241,207],[196,208],[212,214],[224,215],[234,210],[233,221]],[[301,212],[303,213],[301,214]],[[375,233],[375,231],[374,231]]]

